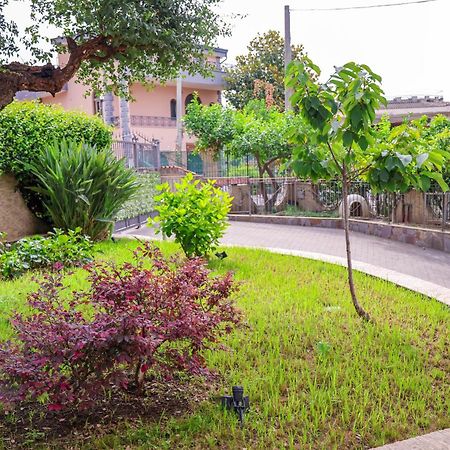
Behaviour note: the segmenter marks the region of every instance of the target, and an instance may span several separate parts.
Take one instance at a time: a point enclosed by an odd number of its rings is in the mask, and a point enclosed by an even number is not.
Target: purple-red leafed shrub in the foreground
[[[148,243],[135,256],[88,266],[90,289],[69,301],[60,272],[44,277],[28,298],[35,312],[15,316],[17,339],[0,349],[2,402],[81,408],[107,391],[142,392],[149,371],[208,373],[201,351],[239,319],[231,274],[211,277],[199,259],[168,263]]]

